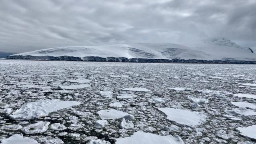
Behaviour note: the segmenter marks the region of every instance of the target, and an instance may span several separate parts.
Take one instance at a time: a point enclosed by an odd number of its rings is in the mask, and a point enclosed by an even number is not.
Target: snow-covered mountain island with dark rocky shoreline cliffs
[[[171,43],[136,43],[104,46],[72,46],[48,48],[8,56],[11,59],[84,60],[125,62],[173,62],[183,60],[256,61],[256,54],[228,39],[205,40],[188,47]],[[184,61],[185,60],[185,61]]]

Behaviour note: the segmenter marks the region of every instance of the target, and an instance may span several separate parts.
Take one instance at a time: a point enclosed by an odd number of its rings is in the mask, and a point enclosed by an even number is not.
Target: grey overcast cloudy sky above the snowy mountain
[[[256,0],[0,0],[0,51],[208,38],[256,50]]]

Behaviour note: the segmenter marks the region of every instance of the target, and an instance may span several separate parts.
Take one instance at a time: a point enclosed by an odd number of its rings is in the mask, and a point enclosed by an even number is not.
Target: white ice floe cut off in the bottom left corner
[[[36,140],[28,137],[23,137],[20,134],[14,134],[9,138],[3,139],[1,142],[2,144],[39,144]]]

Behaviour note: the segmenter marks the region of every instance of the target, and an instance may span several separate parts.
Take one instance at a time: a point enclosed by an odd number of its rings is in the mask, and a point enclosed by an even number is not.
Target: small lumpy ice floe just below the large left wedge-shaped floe
[[[28,126],[24,126],[21,131],[24,132],[25,134],[38,134],[38,133],[43,133],[48,130],[50,122],[43,122],[39,121],[35,124],[30,124]]]

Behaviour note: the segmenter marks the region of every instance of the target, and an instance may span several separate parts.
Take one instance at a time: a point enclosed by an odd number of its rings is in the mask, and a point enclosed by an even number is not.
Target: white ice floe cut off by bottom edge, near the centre
[[[117,138],[115,144],[184,144],[184,142],[179,136],[160,136],[138,131],[130,137]]]

